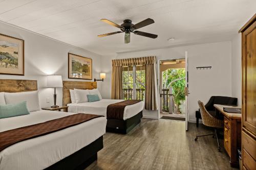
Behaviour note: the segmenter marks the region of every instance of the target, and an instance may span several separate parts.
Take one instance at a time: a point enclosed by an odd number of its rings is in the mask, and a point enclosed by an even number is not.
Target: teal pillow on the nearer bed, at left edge
[[[21,116],[25,114],[29,114],[27,101],[15,104],[0,105],[0,118]]]

